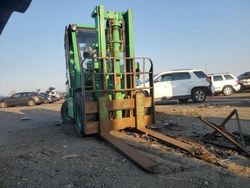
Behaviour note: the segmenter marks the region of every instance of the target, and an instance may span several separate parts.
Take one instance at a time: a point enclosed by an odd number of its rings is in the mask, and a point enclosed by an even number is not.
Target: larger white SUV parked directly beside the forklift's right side
[[[149,82],[145,82],[138,87],[148,86]],[[178,99],[180,102],[187,102],[192,99],[196,103],[201,103],[207,95],[211,95],[210,83],[207,81],[207,75],[201,70],[174,70],[154,76],[156,100]]]

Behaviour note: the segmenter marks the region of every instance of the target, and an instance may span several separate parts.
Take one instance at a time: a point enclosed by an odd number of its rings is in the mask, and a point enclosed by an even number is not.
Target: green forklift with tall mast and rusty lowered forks
[[[97,6],[91,16],[95,25],[70,24],[65,29],[63,122],[74,124],[79,136],[98,135],[148,172],[155,172],[157,163],[115,137],[115,130],[132,128],[189,153],[198,151],[147,128],[155,123],[153,63],[135,57],[133,11]]]

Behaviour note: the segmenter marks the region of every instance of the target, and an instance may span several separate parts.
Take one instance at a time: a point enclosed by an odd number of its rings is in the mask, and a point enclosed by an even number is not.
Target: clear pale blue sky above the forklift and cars
[[[134,10],[135,53],[150,57],[155,73],[250,71],[249,0],[32,0],[0,36],[0,95],[49,86],[63,91],[65,26],[93,24],[91,12],[100,4]]]

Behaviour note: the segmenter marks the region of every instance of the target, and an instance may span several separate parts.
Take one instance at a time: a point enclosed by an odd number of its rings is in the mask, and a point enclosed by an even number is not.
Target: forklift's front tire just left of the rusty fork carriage
[[[83,137],[84,124],[83,124],[83,109],[82,109],[82,95],[77,92],[75,95],[75,130],[78,136]]]

